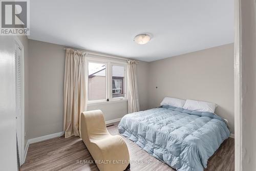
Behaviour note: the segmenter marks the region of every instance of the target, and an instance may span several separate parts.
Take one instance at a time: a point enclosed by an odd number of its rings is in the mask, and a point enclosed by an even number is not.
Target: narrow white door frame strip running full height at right
[[[241,0],[234,0],[234,170],[242,171],[243,90],[242,90]]]

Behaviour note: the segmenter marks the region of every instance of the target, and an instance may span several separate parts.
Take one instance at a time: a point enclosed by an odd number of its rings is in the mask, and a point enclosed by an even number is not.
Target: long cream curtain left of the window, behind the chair
[[[80,114],[87,110],[86,86],[86,54],[67,49],[63,92],[65,138],[80,135]]]

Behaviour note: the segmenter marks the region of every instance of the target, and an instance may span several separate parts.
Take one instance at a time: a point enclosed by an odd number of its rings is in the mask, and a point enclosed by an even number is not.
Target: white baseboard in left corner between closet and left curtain
[[[41,136],[41,137],[37,137],[37,138],[32,138],[32,139],[29,139],[27,141],[27,144],[26,144],[26,147],[24,149],[24,161],[23,163],[25,162],[26,160],[26,157],[27,157],[27,153],[28,153],[28,148],[29,148],[29,145],[30,144],[33,144],[35,142],[40,142],[40,141],[44,141],[44,140],[48,140],[48,139],[52,139],[52,138],[56,138],[56,137],[60,137],[64,134],[64,132],[59,132],[59,133],[54,133],[54,134],[49,134],[49,135],[45,135],[45,136]],[[23,164],[22,163],[22,164]]]

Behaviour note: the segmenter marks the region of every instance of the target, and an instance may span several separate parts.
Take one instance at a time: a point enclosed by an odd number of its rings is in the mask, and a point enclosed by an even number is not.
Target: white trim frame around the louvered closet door
[[[21,49],[22,49],[22,115],[20,117],[21,119],[21,125],[20,125],[20,129],[21,129],[21,144],[20,144],[20,147],[21,147],[21,151],[19,152],[20,153],[20,165],[22,165],[24,162],[25,162],[25,126],[24,126],[24,123],[25,123],[25,117],[24,117],[24,114],[25,114],[25,73],[24,73],[24,46],[22,44],[22,42],[19,40],[19,38],[17,36],[14,36],[14,43],[17,44]],[[15,63],[15,67],[16,67],[16,63]],[[15,71],[16,72],[16,71]],[[16,94],[16,93],[15,93]]]

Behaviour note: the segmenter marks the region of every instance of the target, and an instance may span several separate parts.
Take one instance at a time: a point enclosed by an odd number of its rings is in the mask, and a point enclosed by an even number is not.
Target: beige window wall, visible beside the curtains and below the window
[[[63,130],[64,46],[29,40],[29,118],[27,138],[35,138]],[[139,62],[138,84],[141,109],[147,109],[148,62]],[[89,105],[88,110],[101,109],[105,120],[127,114],[127,101]]]

